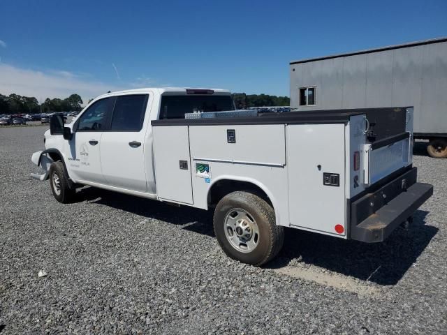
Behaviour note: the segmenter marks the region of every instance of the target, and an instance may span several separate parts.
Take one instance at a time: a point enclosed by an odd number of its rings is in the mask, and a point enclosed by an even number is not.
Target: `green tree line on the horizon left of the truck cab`
[[[20,96],[0,94],[0,114],[35,114],[44,112],[73,112],[82,110],[82,98],[79,94],[71,94],[68,98],[46,98],[39,104],[33,96]]]

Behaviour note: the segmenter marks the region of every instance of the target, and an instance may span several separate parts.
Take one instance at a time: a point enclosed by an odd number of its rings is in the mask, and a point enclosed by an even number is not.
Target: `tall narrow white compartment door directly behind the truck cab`
[[[153,126],[156,194],[193,203],[188,126]]]

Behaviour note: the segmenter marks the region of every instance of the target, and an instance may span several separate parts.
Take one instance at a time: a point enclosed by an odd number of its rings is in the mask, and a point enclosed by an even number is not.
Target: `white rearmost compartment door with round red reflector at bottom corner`
[[[292,226],[346,238],[344,128],[344,124],[287,126]]]

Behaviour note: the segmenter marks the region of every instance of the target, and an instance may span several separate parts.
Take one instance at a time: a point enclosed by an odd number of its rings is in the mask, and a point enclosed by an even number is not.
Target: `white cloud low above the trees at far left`
[[[115,87],[104,82],[95,82],[74,75],[68,71],[50,71],[47,73],[0,64],[0,94],[20,94],[45,98],[66,98],[79,94],[87,103],[107,91],[119,91],[124,87]]]

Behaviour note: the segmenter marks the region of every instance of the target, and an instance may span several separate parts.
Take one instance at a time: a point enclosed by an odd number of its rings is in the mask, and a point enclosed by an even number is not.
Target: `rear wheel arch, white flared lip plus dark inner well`
[[[252,178],[221,176],[218,179],[215,179],[207,193],[208,208],[215,207],[221,198],[235,191],[247,191],[254,193],[268,202],[274,210],[275,222],[279,225],[280,216],[278,212],[277,200],[274,198],[272,192],[270,192],[267,186]]]

